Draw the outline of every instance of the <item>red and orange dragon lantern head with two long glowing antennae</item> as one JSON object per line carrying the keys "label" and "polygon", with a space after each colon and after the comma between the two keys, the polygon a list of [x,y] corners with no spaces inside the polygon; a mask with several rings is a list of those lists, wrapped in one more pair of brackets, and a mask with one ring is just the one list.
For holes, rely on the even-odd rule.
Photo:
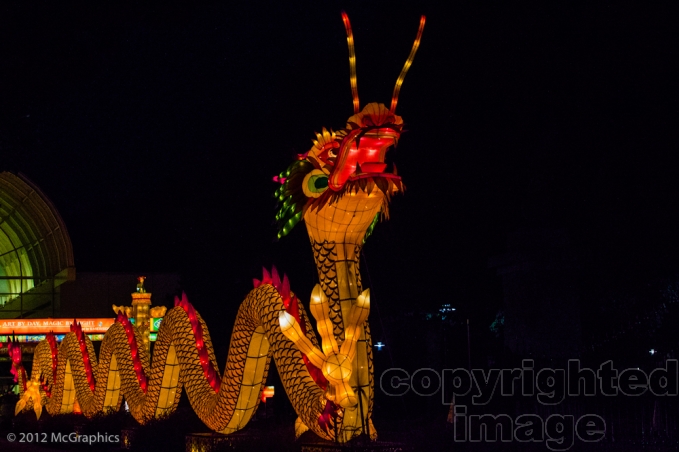
{"label": "red and orange dragon lantern head with two long glowing antennae", "polygon": [[380,214],[388,218],[391,195],[404,189],[396,166],[388,168],[387,151],[398,143],[403,120],[395,114],[398,94],[412,64],[424,30],[424,16],[410,56],[399,75],[391,107],[370,103],[360,110],[356,57],[349,18],[347,30],[354,115],[338,131],[323,128],[313,146],[285,171],[274,177],[281,183],[275,193],[280,203],[276,221],[278,238],[304,219],[315,242],[362,244]]}

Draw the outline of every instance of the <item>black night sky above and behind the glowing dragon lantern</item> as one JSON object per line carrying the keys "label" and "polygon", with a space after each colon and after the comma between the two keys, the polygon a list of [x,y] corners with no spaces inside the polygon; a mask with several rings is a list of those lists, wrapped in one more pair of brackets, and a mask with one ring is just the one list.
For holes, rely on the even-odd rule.
{"label": "black night sky above and behind the glowing dragon lantern", "polygon": [[352,114],[344,9],[362,105],[389,102],[427,15],[392,151],[407,191],[365,248],[383,315],[452,303],[492,320],[488,259],[525,228],[565,229],[593,293],[677,274],[669,12],[166,3],[0,6],[0,169],[53,201],[78,271],[180,272],[199,311],[230,319],[275,264],[308,301],[304,226],[274,240],[271,178]]}

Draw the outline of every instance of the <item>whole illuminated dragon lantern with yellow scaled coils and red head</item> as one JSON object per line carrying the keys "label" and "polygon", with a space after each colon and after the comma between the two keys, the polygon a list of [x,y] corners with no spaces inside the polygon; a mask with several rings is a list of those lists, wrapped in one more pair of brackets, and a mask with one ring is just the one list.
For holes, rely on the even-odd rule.
{"label": "whole illuminated dragon lantern with yellow scaled coils and red head", "polygon": [[353,34],[349,18],[342,17],[354,115],[344,129],[322,129],[311,149],[274,177],[281,184],[275,195],[278,237],[302,219],[309,233],[320,279],[310,311],[320,345],[287,277],[275,268],[264,270],[238,311],[222,376],[207,325],[184,296],[163,319],[152,362],[139,345],[140,333],[122,312],[106,333],[98,359],[78,325],[61,345],[51,335],[36,347],[30,380],[16,357],[13,373],[22,391],[17,412],[45,406],[50,413],[64,413],[77,404],[91,416],[118,410],[124,397],[135,419],[145,423],[172,412],[183,389],[208,427],[232,433],[257,409],[273,355],[299,416],[297,435],[310,429],[339,442],[361,433],[376,438],[370,291],[361,284],[359,257],[379,217],[388,216],[391,195],[403,190],[396,167],[387,170],[385,154],[401,134],[403,121],[395,114],[398,94],[425,19],[397,79],[391,107],[371,103],[360,110]]}

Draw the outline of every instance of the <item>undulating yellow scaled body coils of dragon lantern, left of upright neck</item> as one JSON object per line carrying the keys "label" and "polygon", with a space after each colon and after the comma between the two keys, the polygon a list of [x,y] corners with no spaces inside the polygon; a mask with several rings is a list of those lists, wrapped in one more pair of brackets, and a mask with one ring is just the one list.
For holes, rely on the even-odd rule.
{"label": "undulating yellow scaled body coils of dragon lantern, left of upright neck", "polygon": [[[115,323],[104,336],[98,359],[92,343],[85,339],[87,356],[96,379],[94,391],[87,383],[75,333],[66,335],[59,346],[55,381],[51,377],[49,344],[43,341],[38,345],[32,381],[42,376],[51,388],[51,397],[41,397],[50,414],[72,412],[76,399],[83,414],[88,417],[117,411],[124,397],[130,413],[140,423],[174,411],[184,390],[194,411],[208,427],[232,433],[245,426],[257,409],[270,357],[273,356],[300,418],[312,430],[328,437],[316,422],[324,407],[321,402],[323,391],[306,371],[300,352],[281,334],[278,315],[283,309],[278,291],[270,284],[261,285],[248,294],[238,311],[226,370],[217,393],[204,377],[196,351],[196,338],[187,313],[180,307],[169,310],[163,319],[154,346],[153,362],[143,347],[138,349],[148,376],[146,393],[137,381],[127,335],[120,323]],[[208,327],[199,314],[197,317],[203,328],[203,341],[210,360],[218,368]],[[311,328],[308,331],[312,331]],[[137,343],[141,344],[139,333],[136,335]],[[316,343],[312,335],[310,340]],[[22,382],[19,383],[22,387]],[[27,383],[33,388],[30,381]],[[31,394],[26,393],[35,394],[35,390]],[[22,408],[33,407],[34,402],[22,401]]]}

